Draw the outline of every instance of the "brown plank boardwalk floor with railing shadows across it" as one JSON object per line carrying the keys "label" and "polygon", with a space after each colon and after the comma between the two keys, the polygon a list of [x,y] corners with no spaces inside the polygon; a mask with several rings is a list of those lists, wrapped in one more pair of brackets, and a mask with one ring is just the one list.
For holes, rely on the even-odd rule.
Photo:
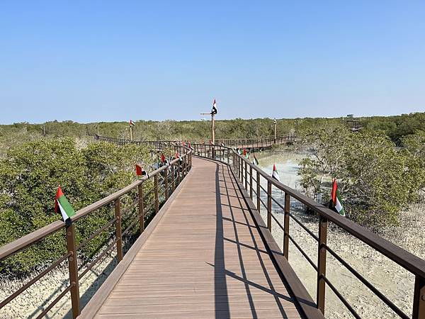
{"label": "brown plank boardwalk floor with railing shadows across it", "polygon": [[82,318],[300,318],[229,167],[193,159]]}

